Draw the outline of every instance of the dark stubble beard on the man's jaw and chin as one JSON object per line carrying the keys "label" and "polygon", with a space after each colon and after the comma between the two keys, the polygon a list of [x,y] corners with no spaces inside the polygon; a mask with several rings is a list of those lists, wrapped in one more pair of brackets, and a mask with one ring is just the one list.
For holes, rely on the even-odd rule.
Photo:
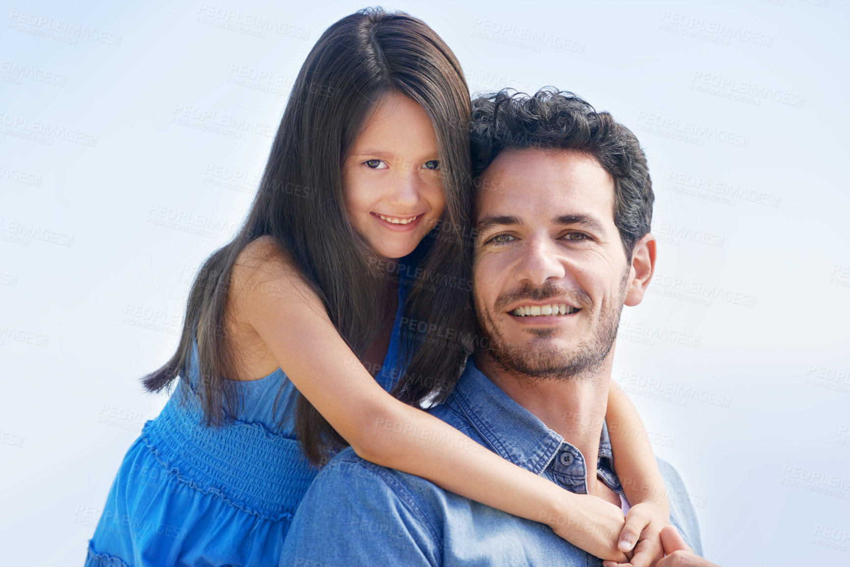
{"label": "dark stubble beard on the man's jaw and chin", "polygon": [[[558,349],[550,346],[541,348],[520,349],[507,343],[505,337],[490,317],[489,312],[482,312],[479,304],[475,303],[475,315],[479,321],[479,329],[490,345],[479,354],[493,361],[501,370],[514,377],[529,380],[570,380],[593,377],[614,346],[617,337],[617,327],[620,326],[620,315],[623,300],[626,298],[626,286],[630,269],[626,269],[620,281],[617,301],[609,303],[599,313],[598,325],[587,341],[582,341],[571,349]],[[533,299],[536,301],[558,297],[560,288],[555,286],[536,288]],[[588,297],[582,292],[584,297]],[[575,295],[575,293],[571,294]],[[523,298],[529,298],[525,296]],[[498,302],[497,302],[498,303]],[[587,305],[583,309],[587,309]],[[582,309],[582,310],[583,310]],[[512,317],[513,315],[505,315]],[[528,329],[537,337],[545,338],[553,335],[552,329]],[[569,351],[569,352],[564,352]]]}

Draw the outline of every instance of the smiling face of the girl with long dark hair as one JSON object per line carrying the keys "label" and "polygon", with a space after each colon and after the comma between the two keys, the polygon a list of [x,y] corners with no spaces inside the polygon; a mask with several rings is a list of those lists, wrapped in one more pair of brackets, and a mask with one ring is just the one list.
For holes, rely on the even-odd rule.
{"label": "smiling face of the girl with long dark hair", "polygon": [[445,207],[437,138],[422,106],[403,94],[379,101],[343,164],[348,218],[376,252],[413,252]]}

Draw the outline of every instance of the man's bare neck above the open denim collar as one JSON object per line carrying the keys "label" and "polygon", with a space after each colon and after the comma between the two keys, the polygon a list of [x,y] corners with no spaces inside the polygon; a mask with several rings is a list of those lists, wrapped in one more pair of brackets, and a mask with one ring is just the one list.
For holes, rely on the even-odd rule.
{"label": "man's bare neck above the open denim collar", "polygon": [[483,354],[475,356],[475,366],[502,392],[581,451],[587,467],[587,493],[594,494],[598,485],[599,439],[608,408],[611,360],[613,356],[606,357],[592,375],[563,379],[530,380],[515,376]]}

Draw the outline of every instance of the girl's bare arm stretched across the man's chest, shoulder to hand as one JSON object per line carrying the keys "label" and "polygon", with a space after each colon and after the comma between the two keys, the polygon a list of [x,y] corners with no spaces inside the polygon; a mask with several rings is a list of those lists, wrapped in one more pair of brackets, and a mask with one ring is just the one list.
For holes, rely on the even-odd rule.
{"label": "girl's bare arm stretched across the man's chest, shoulder to hand", "polygon": [[[576,495],[508,462],[437,417],[388,394],[339,336],[320,299],[282,254],[236,264],[231,291],[241,320],[358,456],[428,479],[458,495],[552,526],[600,558],[616,547],[618,507]],[[428,432],[428,439],[423,437]],[[422,443],[430,447],[423,458]]]}

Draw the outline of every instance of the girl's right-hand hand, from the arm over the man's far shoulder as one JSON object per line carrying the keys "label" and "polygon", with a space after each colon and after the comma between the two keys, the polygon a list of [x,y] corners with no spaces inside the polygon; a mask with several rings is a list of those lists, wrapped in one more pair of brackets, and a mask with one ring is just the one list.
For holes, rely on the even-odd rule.
{"label": "girl's right-hand hand, from the arm over the man's far shoulder", "polygon": [[[664,557],[661,545],[661,528],[669,524],[670,519],[662,517],[663,509],[642,502],[635,504],[626,514],[626,523],[620,534],[618,548],[623,552],[634,551],[629,563],[603,561],[603,567],[649,567]],[[637,545],[636,545],[637,542]]]}

